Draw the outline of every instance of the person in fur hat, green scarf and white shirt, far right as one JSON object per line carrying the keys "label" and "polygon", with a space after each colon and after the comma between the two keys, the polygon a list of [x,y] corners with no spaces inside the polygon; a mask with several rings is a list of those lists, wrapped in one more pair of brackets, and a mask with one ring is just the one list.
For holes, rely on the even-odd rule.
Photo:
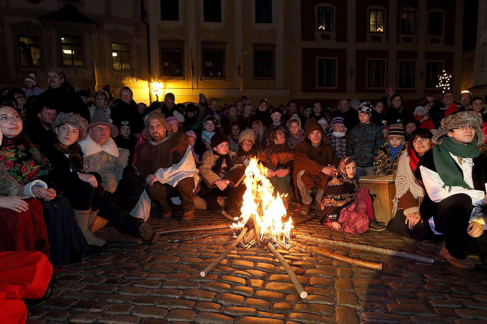
{"label": "person in fur hat, green scarf and white shirt, far right", "polygon": [[422,222],[445,237],[440,256],[464,270],[475,268],[467,258],[469,246],[477,246],[474,254],[487,252],[485,214],[472,216],[474,206],[487,205],[487,156],[478,148],[485,141],[481,127],[482,118],[471,111],[451,113],[441,120],[432,149],[416,169],[428,193],[419,207]]}

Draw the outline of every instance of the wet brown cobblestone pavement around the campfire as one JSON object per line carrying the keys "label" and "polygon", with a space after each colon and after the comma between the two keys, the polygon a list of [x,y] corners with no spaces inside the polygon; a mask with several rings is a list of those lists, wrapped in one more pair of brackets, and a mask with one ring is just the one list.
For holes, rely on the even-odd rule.
{"label": "wet brown cobblestone pavement around the campfire", "polygon": [[[228,223],[207,211],[197,211],[194,221],[185,223],[155,216],[149,222],[159,230]],[[177,233],[150,244],[107,226],[97,232],[107,246],[55,275],[52,297],[30,311],[27,323],[487,323],[486,266],[479,258],[472,259],[478,271],[466,272],[438,255],[441,243],[396,237],[387,230],[352,235],[314,220],[293,232],[415,253],[435,262],[334,248],[344,256],[382,262],[379,271],[300,249],[280,250],[308,292],[300,299],[267,249],[237,247],[201,277],[200,271],[230,244],[228,236],[168,243],[202,234]]]}

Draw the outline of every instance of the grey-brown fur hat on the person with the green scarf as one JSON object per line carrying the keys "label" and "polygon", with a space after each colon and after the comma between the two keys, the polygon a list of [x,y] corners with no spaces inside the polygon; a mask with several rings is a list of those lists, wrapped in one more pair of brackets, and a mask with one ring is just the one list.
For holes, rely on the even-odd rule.
{"label": "grey-brown fur hat on the person with the green scarf", "polygon": [[482,117],[468,110],[457,110],[441,119],[441,129],[434,133],[431,141],[433,144],[440,145],[443,143],[443,138],[448,136],[448,132],[453,128],[468,125],[475,128],[475,144],[477,146],[484,144],[486,136],[482,131]]}

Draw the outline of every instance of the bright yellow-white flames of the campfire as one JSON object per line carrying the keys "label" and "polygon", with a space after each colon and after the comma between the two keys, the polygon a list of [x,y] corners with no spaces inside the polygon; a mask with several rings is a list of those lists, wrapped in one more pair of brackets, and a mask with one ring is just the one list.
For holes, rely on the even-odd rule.
{"label": "bright yellow-white flames of the campfire", "polygon": [[282,202],[282,197],[287,196],[287,193],[274,194],[274,186],[266,175],[267,168],[258,164],[256,158],[252,158],[245,169],[246,190],[244,205],[240,210],[241,216],[234,219],[236,222],[232,223],[232,228],[243,227],[245,222],[255,215],[261,227],[261,239],[268,234],[275,241],[286,244],[289,232],[294,228],[291,217],[288,222],[281,221],[281,218],[287,215]]}

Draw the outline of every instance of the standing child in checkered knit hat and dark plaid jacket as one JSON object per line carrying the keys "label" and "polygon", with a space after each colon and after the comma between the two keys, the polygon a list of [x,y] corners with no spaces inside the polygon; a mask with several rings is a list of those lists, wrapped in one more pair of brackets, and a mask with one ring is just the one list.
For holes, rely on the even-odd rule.
{"label": "standing child in checkered knit hat and dark plaid jacket", "polygon": [[358,109],[356,124],[347,136],[347,155],[352,156],[357,163],[356,178],[362,175],[374,174],[374,158],[379,148],[384,143],[382,130],[370,121],[372,105],[370,102],[362,102]]}

